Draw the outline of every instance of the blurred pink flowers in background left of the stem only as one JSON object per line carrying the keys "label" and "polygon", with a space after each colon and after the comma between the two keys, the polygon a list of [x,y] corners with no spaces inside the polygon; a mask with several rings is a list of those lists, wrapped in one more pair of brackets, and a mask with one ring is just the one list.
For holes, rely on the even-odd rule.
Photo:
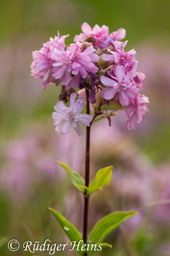
{"label": "blurred pink flowers in background left of the stem only", "polygon": [[73,131],[66,137],[56,136],[53,129],[49,132],[48,125],[42,132],[39,132],[40,128],[41,125],[36,125],[29,135],[5,143],[0,188],[10,195],[11,200],[27,200],[39,182],[48,182],[55,188],[60,180],[66,179],[67,174],[56,163],[57,159],[67,161],[73,170],[82,170],[83,138],[78,139]]}

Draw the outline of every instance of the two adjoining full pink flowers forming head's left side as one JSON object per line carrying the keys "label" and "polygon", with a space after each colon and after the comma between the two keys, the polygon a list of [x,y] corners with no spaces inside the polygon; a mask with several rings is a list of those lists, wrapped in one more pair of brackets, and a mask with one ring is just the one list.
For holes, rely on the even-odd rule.
{"label": "two adjoining full pink flowers forming head's left side", "polygon": [[43,44],[39,51],[32,52],[31,72],[36,79],[43,79],[43,89],[49,83],[71,86],[77,88],[81,78],[87,77],[87,72],[92,74],[98,71],[94,62],[99,61],[99,56],[92,45],[85,51],[81,50],[82,44],[76,42],[69,47],[65,45],[66,36],[55,36]]}

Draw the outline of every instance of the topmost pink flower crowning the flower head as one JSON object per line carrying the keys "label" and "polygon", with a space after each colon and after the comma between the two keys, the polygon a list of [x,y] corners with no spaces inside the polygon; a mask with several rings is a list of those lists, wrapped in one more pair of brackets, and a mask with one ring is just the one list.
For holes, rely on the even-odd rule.
{"label": "topmost pink flower crowning the flower head", "polygon": [[110,45],[111,42],[111,38],[109,38],[109,29],[107,26],[103,25],[101,28],[99,27],[99,25],[95,25],[94,28],[92,29],[90,27],[89,24],[87,24],[86,22],[84,22],[81,25],[81,30],[83,31],[83,33],[81,33],[80,35],[76,35],[74,37],[74,42],[83,40],[85,37],[87,36],[92,36],[96,39],[96,47],[101,46],[102,48],[107,47],[108,45]]}

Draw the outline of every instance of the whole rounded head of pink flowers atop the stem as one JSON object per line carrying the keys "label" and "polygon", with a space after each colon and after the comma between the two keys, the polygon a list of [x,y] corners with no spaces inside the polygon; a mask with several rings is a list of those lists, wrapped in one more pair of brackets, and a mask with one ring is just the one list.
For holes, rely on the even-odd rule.
{"label": "whole rounded head of pink flowers atop the stem", "polygon": [[[118,109],[125,109],[127,114],[127,129],[134,129],[134,121],[141,122],[148,108],[148,98],[140,95],[145,75],[137,72],[138,61],[136,51],[125,51],[127,41],[125,29],[118,29],[110,33],[105,25],[96,24],[91,28],[84,22],[81,26],[83,33],[74,36],[74,44],[66,45],[65,39],[69,35],[55,36],[43,44],[39,51],[32,52],[31,73],[36,79],[43,79],[41,87],[48,84],[62,85],[59,102],[53,112],[56,131],[67,134],[71,125],[81,134],[78,124],[88,126],[92,116],[82,122],[80,116],[83,110],[83,99],[77,99],[78,90],[89,91],[90,109],[94,109],[94,116],[108,115]],[[64,105],[71,100],[68,108]],[[117,108],[113,108],[116,102]],[[75,107],[75,106],[76,107]],[[120,106],[118,108],[118,106]],[[81,111],[80,111],[81,110]],[[79,116],[79,117],[78,117]],[[84,116],[85,117],[85,116]]]}

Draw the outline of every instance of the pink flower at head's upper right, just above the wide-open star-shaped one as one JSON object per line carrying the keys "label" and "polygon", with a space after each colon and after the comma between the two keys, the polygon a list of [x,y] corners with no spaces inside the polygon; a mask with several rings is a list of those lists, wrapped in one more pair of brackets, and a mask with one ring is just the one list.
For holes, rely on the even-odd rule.
{"label": "pink flower at head's upper right, just above the wide-open star-shaped one", "polygon": [[136,56],[136,51],[132,49],[129,52],[125,52],[124,48],[126,45],[127,41],[125,43],[114,42],[113,46],[115,47],[116,51],[110,51],[111,54],[103,54],[103,60],[111,61],[118,65],[126,65],[127,63],[131,63]]}

